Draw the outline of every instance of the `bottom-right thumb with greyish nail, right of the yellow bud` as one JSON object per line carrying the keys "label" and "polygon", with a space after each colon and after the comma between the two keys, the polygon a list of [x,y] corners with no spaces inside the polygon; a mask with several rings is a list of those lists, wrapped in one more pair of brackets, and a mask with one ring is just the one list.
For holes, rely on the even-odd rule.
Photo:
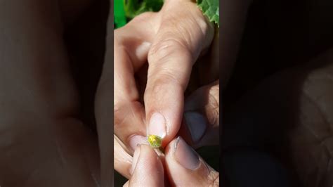
{"label": "bottom-right thumb with greyish nail, right of the yellow bud", "polygon": [[166,171],[173,186],[218,186],[219,174],[178,136],[166,146]]}

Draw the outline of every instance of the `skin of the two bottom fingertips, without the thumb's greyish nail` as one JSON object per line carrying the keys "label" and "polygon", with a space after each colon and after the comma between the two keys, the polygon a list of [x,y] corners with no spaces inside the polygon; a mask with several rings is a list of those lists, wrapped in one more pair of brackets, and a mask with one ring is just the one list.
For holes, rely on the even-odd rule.
{"label": "skin of the two bottom fingertips, without the thumb's greyish nail", "polygon": [[[169,176],[172,186],[219,186],[218,172],[214,171],[207,164],[200,160],[200,166],[195,170],[183,168],[174,159],[173,148],[176,139],[171,141],[166,147],[166,152],[162,159],[152,148],[141,145],[136,151],[140,151],[137,164],[133,167],[133,176],[124,186],[164,186],[164,177]],[[183,155],[184,157],[186,155]],[[164,165],[172,170],[163,169]],[[164,174],[167,174],[164,176]],[[145,177],[151,176],[151,177]]]}

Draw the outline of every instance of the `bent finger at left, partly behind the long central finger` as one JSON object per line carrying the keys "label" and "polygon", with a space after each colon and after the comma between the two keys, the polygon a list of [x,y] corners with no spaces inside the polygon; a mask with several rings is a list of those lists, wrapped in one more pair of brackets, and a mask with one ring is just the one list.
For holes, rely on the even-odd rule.
{"label": "bent finger at left, partly behind the long central finger", "polygon": [[[134,75],[147,59],[150,36],[146,27],[150,23],[143,18],[151,16],[150,13],[141,15],[133,20],[136,25],[129,24],[115,32],[115,134],[127,146],[131,146],[131,153],[136,144],[144,143],[146,136],[145,110],[140,102],[140,88]],[[138,35],[133,36],[133,33]],[[105,77],[110,75],[105,74]]]}

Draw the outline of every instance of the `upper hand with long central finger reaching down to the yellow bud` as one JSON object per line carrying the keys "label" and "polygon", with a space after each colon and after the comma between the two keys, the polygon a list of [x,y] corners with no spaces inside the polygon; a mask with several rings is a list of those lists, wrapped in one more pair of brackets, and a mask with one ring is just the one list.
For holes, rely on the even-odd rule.
{"label": "upper hand with long central finger reaching down to the yellow bud", "polygon": [[[117,136],[115,169],[127,178],[130,155],[138,143],[146,141],[147,133],[163,136],[163,146],[176,136],[192,65],[213,37],[211,23],[192,1],[166,1],[159,13],[144,13],[115,30],[115,51],[107,49],[96,94],[102,181],[110,181],[113,166],[112,121]],[[113,45],[113,30],[108,39],[107,44]],[[115,120],[110,117],[113,108]]]}

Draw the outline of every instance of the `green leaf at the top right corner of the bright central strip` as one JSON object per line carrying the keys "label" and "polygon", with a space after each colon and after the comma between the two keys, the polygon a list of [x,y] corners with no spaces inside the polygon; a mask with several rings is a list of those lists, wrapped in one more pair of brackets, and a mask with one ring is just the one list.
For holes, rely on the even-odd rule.
{"label": "green leaf at the top right corner of the bright central strip", "polygon": [[197,6],[209,18],[210,22],[215,22],[220,27],[220,6],[218,0],[197,0]]}

